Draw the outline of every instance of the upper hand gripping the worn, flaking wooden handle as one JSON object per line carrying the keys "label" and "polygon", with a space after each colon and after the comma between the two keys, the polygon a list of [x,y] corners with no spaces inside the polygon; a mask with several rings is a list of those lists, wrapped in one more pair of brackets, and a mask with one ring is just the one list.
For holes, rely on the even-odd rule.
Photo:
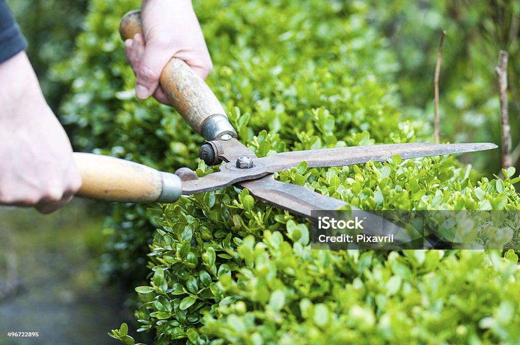
{"label": "upper hand gripping the worn, flaking wooden handle", "polygon": [[159,77],[172,57],[184,60],[202,79],[210,74],[210,53],[190,0],[144,0],[141,24],[144,37],[136,34],[125,41],[126,60],[137,76],[138,98],[153,95],[170,104],[159,87]]}

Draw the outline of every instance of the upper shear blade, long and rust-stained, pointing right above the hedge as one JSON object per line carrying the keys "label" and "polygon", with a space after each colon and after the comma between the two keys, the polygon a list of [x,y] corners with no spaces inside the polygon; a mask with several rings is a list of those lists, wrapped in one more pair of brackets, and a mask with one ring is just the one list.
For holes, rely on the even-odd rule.
{"label": "upper shear blade, long and rust-stained, pointing right above the hedge", "polygon": [[344,166],[352,164],[386,162],[393,155],[400,155],[402,159],[445,154],[485,151],[496,149],[492,143],[462,143],[462,144],[433,144],[433,143],[404,143],[383,144],[371,146],[353,146],[348,148],[320,149],[307,151],[282,152],[269,157],[255,160],[268,167],[269,172],[286,170],[307,162],[308,167]]}

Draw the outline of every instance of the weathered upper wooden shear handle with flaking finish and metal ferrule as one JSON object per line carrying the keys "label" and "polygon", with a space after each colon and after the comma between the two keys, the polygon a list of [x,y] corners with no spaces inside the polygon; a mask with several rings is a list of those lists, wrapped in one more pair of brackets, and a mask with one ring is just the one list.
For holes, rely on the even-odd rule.
{"label": "weathered upper wooden shear handle with flaking finish and metal ferrule", "polygon": [[[140,10],[128,12],[119,25],[123,39],[133,38],[141,29]],[[206,140],[226,134],[237,137],[213,91],[186,62],[172,58],[161,73],[160,84],[173,107]]]}

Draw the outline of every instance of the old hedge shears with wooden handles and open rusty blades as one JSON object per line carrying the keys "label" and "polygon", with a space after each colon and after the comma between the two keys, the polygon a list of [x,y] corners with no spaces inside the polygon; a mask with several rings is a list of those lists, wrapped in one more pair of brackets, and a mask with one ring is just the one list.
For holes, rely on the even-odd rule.
{"label": "old hedge shears with wooden handles and open rusty blades", "polygon": [[[133,38],[140,32],[140,11],[128,12],[121,21],[121,36]],[[258,158],[238,141],[217,97],[184,61],[172,58],[162,71],[160,84],[173,107],[207,140],[200,148],[201,160],[207,165],[225,163],[218,172],[199,178],[189,168],[172,174],[119,158],[76,152],[74,160],[83,178],[78,195],[113,202],[173,203],[181,195],[235,185],[248,189],[258,200],[311,219],[311,210],[335,210],[347,204],[301,185],[277,181],[275,172],[302,162],[309,168],[333,167],[385,162],[397,154],[408,159],[497,148],[493,143],[400,143],[283,152]]]}

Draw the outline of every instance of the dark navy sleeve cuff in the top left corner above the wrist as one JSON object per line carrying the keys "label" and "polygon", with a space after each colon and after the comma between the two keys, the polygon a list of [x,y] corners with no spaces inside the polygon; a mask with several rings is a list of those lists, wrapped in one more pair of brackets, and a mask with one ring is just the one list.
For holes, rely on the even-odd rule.
{"label": "dark navy sleeve cuff in the top left corner above the wrist", "polygon": [[0,0],[0,62],[18,54],[27,47],[6,0]]}

